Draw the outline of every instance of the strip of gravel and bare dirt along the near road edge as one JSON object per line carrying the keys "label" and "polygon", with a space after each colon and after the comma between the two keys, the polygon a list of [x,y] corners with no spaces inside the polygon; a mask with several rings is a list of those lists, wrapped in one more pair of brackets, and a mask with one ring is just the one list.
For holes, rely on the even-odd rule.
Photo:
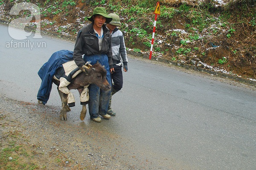
{"label": "strip of gravel and bare dirt along the near road edge", "polygon": [[[60,107],[21,102],[0,94],[0,108],[0,155],[5,159],[0,170],[14,160],[46,170],[137,169],[95,144],[106,137],[104,134],[58,120]],[[15,146],[22,146],[23,154],[19,149],[5,155],[5,148]]]}

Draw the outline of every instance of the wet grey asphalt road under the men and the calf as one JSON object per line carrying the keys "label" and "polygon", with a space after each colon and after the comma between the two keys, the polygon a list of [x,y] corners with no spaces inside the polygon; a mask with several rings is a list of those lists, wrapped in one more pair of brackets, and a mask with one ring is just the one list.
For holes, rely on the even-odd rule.
{"label": "wet grey asphalt road under the men and the calf", "polygon": [[[19,40],[6,26],[0,32],[0,93],[37,102],[38,70],[55,51],[73,51],[74,43],[43,36],[20,40],[33,46],[16,47]],[[136,58],[128,68],[124,87],[113,96],[117,115],[101,123],[91,124],[88,114],[84,120],[119,136],[125,146],[112,147],[122,150],[122,159],[134,155],[148,169],[256,169],[256,91]],[[61,106],[55,86],[47,105]],[[79,125],[76,105],[68,121]]]}

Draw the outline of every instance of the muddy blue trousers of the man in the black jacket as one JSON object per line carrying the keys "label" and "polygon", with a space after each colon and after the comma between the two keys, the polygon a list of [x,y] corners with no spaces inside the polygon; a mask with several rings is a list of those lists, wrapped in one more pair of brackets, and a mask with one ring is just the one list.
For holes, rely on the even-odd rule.
{"label": "muddy blue trousers of the man in the black jacket", "polygon": [[[101,65],[105,66],[105,69],[107,70],[107,80],[108,83],[111,85],[111,76],[110,76],[110,70],[108,65],[108,56],[106,54],[102,55],[92,55],[92,56],[86,56],[84,55],[84,61],[90,61],[91,65],[96,64],[96,62],[99,62]],[[108,103],[111,98],[111,90],[104,91],[100,89],[95,84],[89,85],[89,114],[90,117],[97,118],[99,117],[99,114],[105,115],[108,111]]]}

